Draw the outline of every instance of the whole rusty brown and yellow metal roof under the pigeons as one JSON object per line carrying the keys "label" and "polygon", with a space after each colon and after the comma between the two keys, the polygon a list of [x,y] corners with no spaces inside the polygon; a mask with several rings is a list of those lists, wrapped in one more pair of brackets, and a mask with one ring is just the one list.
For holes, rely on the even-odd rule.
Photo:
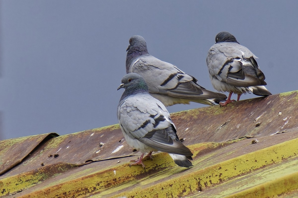
{"label": "whole rusty brown and yellow metal roof under the pigeons", "polygon": [[2,140],[0,197],[297,195],[297,94],[173,113],[177,134],[194,153],[188,169],[161,152],[144,161],[145,170],[128,167],[140,153],[118,125]]}

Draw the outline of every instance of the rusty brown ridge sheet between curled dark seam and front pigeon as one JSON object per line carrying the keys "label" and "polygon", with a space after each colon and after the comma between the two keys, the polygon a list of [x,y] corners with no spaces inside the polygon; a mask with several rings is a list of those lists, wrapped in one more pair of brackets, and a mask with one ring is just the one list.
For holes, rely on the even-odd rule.
{"label": "rusty brown ridge sheet between curled dark seam and front pigeon", "polygon": [[[17,167],[7,171],[1,177],[19,174],[58,162],[81,164],[87,161],[137,155],[123,140],[124,137],[119,125],[55,137],[39,145],[30,154],[30,158],[23,160]],[[103,145],[100,146],[100,143]],[[20,144],[19,147],[23,148],[27,143],[24,144]]]}

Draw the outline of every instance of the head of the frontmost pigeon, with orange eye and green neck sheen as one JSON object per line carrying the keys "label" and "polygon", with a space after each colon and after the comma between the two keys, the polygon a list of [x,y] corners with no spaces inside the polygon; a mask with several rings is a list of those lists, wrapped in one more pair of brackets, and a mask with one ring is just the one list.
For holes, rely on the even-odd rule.
{"label": "head of the frontmost pigeon, with orange eye and green neck sheen", "polygon": [[[122,98],[137,94],[137,93],[148,93],[148,86],[144,80],[144,78],[136,73],[128,73],[126,74],[122,80],[121,84],[119,85],[118,89],[125,88],[125,91],[122,95]],[[121,99],[122,99],[121,98]]]}

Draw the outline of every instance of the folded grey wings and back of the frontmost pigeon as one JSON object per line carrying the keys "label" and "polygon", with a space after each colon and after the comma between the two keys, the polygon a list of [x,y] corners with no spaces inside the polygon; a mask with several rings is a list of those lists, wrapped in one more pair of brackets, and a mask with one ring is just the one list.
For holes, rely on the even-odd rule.
{"label": "folded grey wings and back of the frontmost pigeon", "polygon": [[[128,136],[133,136],[159,151],[193,155],[179,141],[170,114],[159,100],[149,94],[136,94],[120,103],[118,119]],[[174,134],[169,132],[169,129],[172,129]]]}

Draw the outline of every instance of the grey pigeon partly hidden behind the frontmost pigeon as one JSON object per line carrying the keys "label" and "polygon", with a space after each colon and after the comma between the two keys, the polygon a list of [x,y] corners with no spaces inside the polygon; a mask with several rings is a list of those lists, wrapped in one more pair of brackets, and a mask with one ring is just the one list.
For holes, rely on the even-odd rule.
{"label": "grey pigeon partly hidden behind the frontmost pigeon", "polygon": [[126,73],[143,76],[151,96],[165,106],[190,102],[215,105],[226,101],[226,95],[206,90],[197,84],[197,79],[175,65],[151,56],[143,37],[131,37],[126,51]]}

